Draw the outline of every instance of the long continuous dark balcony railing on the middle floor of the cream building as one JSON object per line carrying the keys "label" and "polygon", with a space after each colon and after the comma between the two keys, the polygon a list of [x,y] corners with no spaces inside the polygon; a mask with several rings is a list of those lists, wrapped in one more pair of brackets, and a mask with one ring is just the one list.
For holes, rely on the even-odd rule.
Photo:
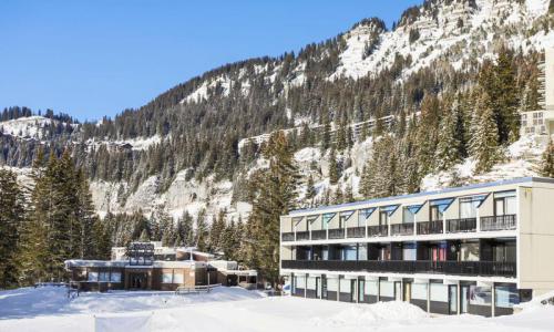
{"label": "long continuous dark balcony railing on the middle floor of the cream building", "polygon": [[429,260],[284,260],[284,269],[515,277],[515,262]]}

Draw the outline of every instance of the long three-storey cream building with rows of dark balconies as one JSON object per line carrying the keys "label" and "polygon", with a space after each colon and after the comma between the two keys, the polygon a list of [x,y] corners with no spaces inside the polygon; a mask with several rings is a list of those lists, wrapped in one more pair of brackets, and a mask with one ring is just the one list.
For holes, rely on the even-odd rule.
{"label": "long three-storey cream building with rows of dark balconies", "polygon": [[280,219],[296,297],[485,317],[554,290],[554,179],[517,178]]}

